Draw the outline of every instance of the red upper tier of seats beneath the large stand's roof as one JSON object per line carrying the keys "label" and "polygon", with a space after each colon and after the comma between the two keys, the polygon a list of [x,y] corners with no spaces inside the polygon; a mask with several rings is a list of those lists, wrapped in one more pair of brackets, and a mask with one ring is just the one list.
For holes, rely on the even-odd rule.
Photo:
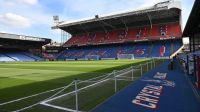
{"label": "red upper tier of seats beneath the large stand's roof", "polygon": [[64,47],[90,44],[123,43],[126,41],[143,39],[160,39],[168,37],[181,37],[182,31],[179,23],[129,28],[127,30],[113,30],[109,32],[95,32],[89,34],[73,35]]}

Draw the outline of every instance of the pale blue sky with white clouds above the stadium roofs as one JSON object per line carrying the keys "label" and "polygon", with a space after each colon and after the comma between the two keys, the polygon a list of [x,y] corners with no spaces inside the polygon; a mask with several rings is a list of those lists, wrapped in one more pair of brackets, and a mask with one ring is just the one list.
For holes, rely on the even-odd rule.
{"label": "pale blue sky with white clouds above the stadium roofs", "polygon": [[[60,42],[60,30],[52,30],[53,16],[73,21],[152,6],[161,0],[0,0],[0,32],[51,38]],[[183,28],[194,0],[182,3]]]}

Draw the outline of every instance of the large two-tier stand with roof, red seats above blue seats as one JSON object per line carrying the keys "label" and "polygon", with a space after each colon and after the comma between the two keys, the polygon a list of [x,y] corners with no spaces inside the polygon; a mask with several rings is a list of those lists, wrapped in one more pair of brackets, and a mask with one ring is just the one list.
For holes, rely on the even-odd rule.
{"label": "large two-tier stand with roof, red seats above blue seats", "polygon": [[61,22],[54,27],[72,37],[57,58],[85,60],[88,55],[96,55],[99,59],[117,59],[118,54],[169,58],[183,45],[180,21],[180,3],[165,1],[137,11]]}

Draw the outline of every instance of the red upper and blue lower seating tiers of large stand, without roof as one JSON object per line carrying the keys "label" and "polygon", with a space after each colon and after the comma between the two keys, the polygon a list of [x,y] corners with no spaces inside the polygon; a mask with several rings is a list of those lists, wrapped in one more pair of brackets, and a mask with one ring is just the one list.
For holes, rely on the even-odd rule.
{"label": "red upper and blue lower seating tiers of large stand, without roof", "polygon": [[[140,40],[162,40],[171,39],[172,37],[180,37],[181,28],[178,23],[159,24],[150,26],[130,28],[126,30],[113,30],[107,34],[104,32],[97,32],[91,34],[81,34],[72,36],[63,46],[69,47],[63,53],[58,55],[58,59],[64,60],[84,60],[87,55],[99,55],[100,59],[117,59],[117,54],[134,54],[136,58],[149,58],[149,57],[169,57],[176,50],[182,46],[181,40],[155,42],[155,44],[147,43],[134,43],[132,45],[126,42],[140,41]],[[124,45],[116,46],[114,43],[122,43]],[[72,48],[73,46],[87,46],[87,45],[102,45],[98,47],[87,48]],[[112,45],[109,45],[112,44]],[[159,52],[158,52],[159,51]],[[53,56],[52,56],[53,57]],[[55,57],[55,56],[54,56]]]}

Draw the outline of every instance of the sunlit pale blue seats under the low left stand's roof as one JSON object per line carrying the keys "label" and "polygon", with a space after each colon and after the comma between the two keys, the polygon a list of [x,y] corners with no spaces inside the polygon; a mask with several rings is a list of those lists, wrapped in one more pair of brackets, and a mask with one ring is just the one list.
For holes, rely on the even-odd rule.
{"label": "sunlit pale blue seats under the low left stand's roof", "polygon": [[41,61],[42,58],[28,52],[4,52],[0,53],[0,61]]}

